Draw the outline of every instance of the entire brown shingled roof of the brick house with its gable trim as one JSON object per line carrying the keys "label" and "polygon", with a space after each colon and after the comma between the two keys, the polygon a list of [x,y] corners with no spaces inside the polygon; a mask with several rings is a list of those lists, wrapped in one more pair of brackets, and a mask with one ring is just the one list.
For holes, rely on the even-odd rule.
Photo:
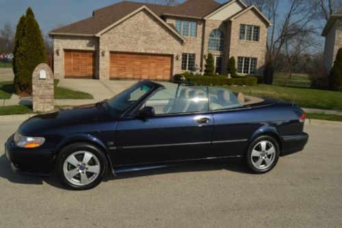
{"label": "entire brown shingled roof of the brick house with its gable trim", "polygon": [[[163,25],[172,30],[172,32],[174,32],[176,36],[179,36],[179,33],[174,29],[174,27],[171,27],[163,20],[161,20],[161,17],[179,16],[203,19],[209,14],[216,12],[222,7],[229,5],[235,1],[239,1],[239,3],[244,6],[246,5],[241,0],[231,0],[223,4],[220,4],[214,0],[187,0],[184,3],[175,6],[157,5],[133,1],[121,1],[113,5],[109,5],[105,8],[94,10],[94,12],[92,12],[92,16],[89,18],[83,19],[76,23],[72,23],[70,25],[66,25],[64,27],[60,27],[58,29],[53,29],[49,32],[49,35],[98,36],[98,34],[103,32],[105,29],[112,27],[112,25],[117,25],[118,23],[124,21],[125,18],[129,18],[129,16],[134,15],[137,10],[142,10],[142,8],[144,7],[145,10],[148,10],[150,14],[153,14],[153,16],[155,16],[161,23],[163,23]],[[250,8],[241,10],[238,14],[241,15],[252,8],[255,8],[255,6],[252,5]],[[255,10],[257,10],[257,13],[261,15],[261,18],[264,18],[265,21],[269,23],[269,25],[272,25],[272,23],[270,23],[257,8],[255,8]]]}

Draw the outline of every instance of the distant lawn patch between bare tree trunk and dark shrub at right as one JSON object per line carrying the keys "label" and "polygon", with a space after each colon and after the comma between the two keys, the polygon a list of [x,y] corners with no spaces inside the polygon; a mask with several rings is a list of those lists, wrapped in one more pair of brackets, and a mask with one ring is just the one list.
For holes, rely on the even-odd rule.
{"label": "distant lawn patch between bare tree trunk and dark shrub at right", "polygon": [[293,73],[289,79],[289,73],[277,72],[274,73],[273,84],[274,86],[310,88],[311,81],[306,74]]}

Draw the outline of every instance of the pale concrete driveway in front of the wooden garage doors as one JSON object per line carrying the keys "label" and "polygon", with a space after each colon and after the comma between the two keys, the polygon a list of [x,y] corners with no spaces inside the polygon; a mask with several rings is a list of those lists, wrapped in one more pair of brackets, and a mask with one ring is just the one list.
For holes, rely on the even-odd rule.
{"label": "pale concrete driveway in front of the wooden garage doors", "polygon": [[92,94],[96,101],[103,101],[114,97],[114,95],[122,92],[129,86],[135,84],[133,80],[110,80],[100,81],[96,79],[62,79],[58,87],[79,90]]}

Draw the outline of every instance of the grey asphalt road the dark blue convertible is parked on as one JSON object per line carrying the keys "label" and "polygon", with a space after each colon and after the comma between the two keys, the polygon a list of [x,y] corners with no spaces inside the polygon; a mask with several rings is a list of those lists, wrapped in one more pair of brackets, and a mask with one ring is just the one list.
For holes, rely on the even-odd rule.
{"label": "grey asphalt road the dark blue convertible is parked on", "polygon": [[[20,122],[0,122],[0,142]],[[65,190],[15,175],[0,149],[0,227],[342,227],[342,125],[306,125],[300,153],[271,173],[193,165],[107,177]]]}

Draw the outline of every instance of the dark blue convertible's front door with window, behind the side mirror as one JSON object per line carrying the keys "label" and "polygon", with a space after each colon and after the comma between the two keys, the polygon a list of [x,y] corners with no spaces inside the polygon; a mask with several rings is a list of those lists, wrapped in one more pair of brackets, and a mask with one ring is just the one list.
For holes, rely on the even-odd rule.
{"label": "dark blue convertible's front door with window, behind the side mirror", "polygon": [[153,107],[155,116],[131,115],[119,121],[116,164],[207,157],[213,134],[207,88],[166,87],[144,102],[140,109],[146,106]]}

